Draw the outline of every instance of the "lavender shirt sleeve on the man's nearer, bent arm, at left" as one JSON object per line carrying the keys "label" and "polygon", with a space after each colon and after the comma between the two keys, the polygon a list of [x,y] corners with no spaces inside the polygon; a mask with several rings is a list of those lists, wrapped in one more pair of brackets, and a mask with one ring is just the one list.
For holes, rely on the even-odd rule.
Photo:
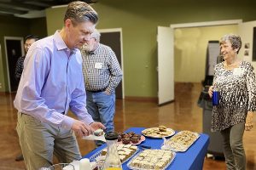
{"label": "lavender shirt sleeve on the man's nearer, bent arm, at left", "polygon": [[[41,48],[30,49],[24,63],[24,76],[20,80],[20,89],[16,99],[20,112],[33,116],[41,122],[48,122],[57,127],[70,129],[74,119],[65,116],[45,105],[41,97],[44,82],[47,79],[50,66],[49,54]],[[16,100],[15,99],[15,100]]]}

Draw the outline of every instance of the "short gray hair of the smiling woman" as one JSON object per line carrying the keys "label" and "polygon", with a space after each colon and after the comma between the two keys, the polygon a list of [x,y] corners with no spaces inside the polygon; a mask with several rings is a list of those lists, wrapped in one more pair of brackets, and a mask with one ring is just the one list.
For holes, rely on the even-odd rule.
{"label": "short gray hair of the smiling woman", "polygon": [[226,42],[227,40],[230,41],[231,43],[231,47],[233,49],[237,48],[237,54],[239,53],[239,50],[241,48],[241,37],[237,36],[236,34],[226,34],[224,35],[224,37],[221,37],[219,44],[223,44],[224,42]]}

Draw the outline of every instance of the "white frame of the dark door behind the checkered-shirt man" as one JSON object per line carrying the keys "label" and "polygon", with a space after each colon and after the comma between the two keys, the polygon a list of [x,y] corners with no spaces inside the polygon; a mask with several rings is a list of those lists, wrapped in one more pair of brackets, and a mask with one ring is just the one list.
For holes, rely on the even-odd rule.
{"label": "white frame of the dark door behind the checkered-shirt man", "polygon": [[125,69],[124,69],[124,58],[123,58],[123,34],[122,34],[122,28],[109,28],[109,29],[97,29],[100,33],[108,33],[108,32],[119,32],[120,33],[120,47],[121,47],[121,68],[123,71],[123,77],[122,77],[122,94],[123,99],[125,99]]}

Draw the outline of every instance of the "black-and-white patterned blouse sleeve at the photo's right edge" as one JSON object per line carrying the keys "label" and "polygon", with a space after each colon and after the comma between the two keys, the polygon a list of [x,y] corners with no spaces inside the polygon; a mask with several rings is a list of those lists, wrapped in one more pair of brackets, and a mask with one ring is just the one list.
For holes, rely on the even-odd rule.
{"label": "black-and-white patterned blouse sleeve at the photo's right edge", "polygon": [[253,71],[253,65],[251,64],[248,65],[247,70],[247,93],[247,111],[256,111],[256,79]]}

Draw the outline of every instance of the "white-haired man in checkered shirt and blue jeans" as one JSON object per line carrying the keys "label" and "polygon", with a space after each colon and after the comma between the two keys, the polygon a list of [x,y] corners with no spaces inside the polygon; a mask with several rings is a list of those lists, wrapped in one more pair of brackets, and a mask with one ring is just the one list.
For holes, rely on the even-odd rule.
{"label": "white-haired man in checkered shirt and blue jeans", "polygon": [[90,34],[90,41],[81,49],[86,108],[94,121],[102,122],[107,132],[113,132],[115,88],[123,72],[113,50],[100,43],[100,36],[95,30]]}

